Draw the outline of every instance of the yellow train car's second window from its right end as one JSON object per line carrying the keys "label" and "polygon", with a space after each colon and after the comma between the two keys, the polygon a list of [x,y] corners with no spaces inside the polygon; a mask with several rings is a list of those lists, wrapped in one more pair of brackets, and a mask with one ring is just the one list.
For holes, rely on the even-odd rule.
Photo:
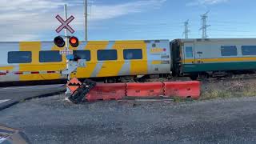
{"label": "yellow train car's second window from its right end", "polygon": [[98,50],[98,61],[113,61],[118,59],[117,50]]}

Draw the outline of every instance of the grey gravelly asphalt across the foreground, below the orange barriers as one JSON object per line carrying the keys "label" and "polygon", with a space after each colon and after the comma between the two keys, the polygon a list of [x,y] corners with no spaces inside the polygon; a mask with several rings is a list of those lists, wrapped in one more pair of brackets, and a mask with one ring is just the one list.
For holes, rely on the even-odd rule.
{"label": "grey gravelly asphalt across the foreground, below the orange barriers", "polygon": [[58,95],[18,103],[0,123],[33,143],[255,143],[256,98],[205,102],[85,102]]}

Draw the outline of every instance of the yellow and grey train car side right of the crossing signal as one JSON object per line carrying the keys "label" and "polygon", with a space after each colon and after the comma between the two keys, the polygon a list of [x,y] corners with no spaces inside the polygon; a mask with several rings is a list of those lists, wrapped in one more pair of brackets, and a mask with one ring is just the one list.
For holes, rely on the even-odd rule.
{"label": "yellow and grey train car side right of the crossing signal", "polygon": [[[110,41],[88,42],[84,50],[90,50],[91,61],[86,68],[78,68],[77,78],[104,78],[129,75],[170,74],[170,46],[168,40],[160,41]],[[100,61],[98,50],[116,50],[117,60]],[[126,53],[130,50],[130,53]],[[132,58],[132,51],[141,50],[141,58]],[[131,58],[128,58],[131,57]]]}

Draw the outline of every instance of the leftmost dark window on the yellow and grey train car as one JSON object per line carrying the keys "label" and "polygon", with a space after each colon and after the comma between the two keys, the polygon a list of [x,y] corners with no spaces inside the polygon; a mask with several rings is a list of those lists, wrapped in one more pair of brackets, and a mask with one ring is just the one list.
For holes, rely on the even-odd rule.
{"label": "leftmost dark window on the yellow and grey train car", "polygon": [[8,63],[30,63],[32,62],[31,51],[9,51]]}

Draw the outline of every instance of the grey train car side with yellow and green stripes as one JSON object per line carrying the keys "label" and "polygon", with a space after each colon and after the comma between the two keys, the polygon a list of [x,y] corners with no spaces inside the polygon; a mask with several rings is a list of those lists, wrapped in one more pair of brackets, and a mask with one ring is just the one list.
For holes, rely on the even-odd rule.
{"label": "grey train car side with yellow and green stripes", "polygon": [[256,49],[255,39],[183,42],[182,72],[256,70],[256,54],[243,54],[244,46]]}

